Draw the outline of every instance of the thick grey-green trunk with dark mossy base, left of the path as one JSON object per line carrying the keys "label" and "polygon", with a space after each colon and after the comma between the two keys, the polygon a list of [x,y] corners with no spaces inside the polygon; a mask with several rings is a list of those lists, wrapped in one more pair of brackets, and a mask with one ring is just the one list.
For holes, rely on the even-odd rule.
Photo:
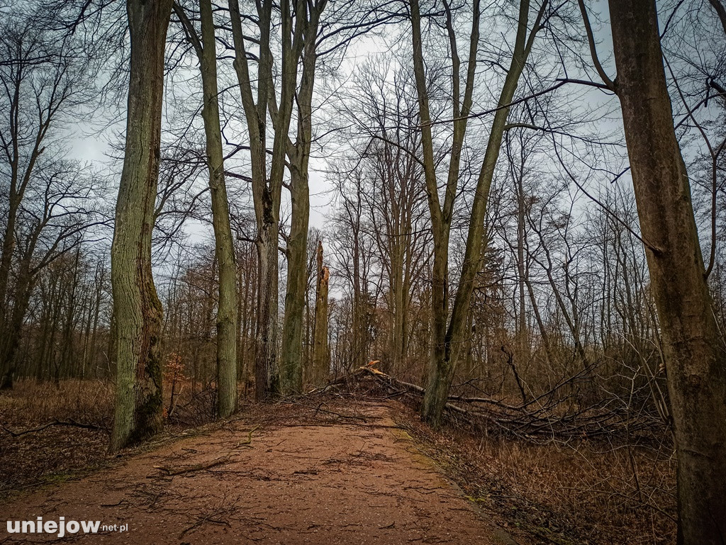
{"label": "thick grey-green trunk with dark mossy base, left of the path", "polygon": [[111,283],[116,327],[116,406],[110,450],[162,425],[162,308],[151,270],[159,173],[164,44],[171,0],[128,0],[131,79],[126,150],[116,202]]}

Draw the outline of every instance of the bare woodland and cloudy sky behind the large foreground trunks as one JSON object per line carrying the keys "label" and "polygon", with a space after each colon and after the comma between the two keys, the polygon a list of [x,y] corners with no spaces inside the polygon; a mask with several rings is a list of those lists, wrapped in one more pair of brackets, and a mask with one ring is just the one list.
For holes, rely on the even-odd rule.
{"label": "bare woodland and cloudy sky behind the large foreground trunks", "polygon": [[[263,287],[252,144],[233,63],[239,48],[228,22],[230,8],[223,4],[212,11],[237,286],[236,379],[245,399],[256,386],[259,351],[271,348],[259,342]],[[248,14],[259,6],[237,9],[245,33],[257,36],[260,21]],[[301,109],[305,75],[295,73],[290,87],[277,60],[271,69],[280,103],[286,92],[294,95],[289,132],[298,131],[297,142],[309,123],[313,221],[303,259],[293,267],[303,273],[295,284],[303,291],[303,390],[340,380],[370,361],[380,361],[378,369],[400,381],[425,385],[437,309],[411,14],[396,1],[331,1],[320,9],[316,38],[308,42],[317,48],[317,64],[308,74],[314,78],[309,113]],[[444,0],[424,2],[420,9],[431,157],[443,187],[457,142],[452,105],[454,111],[457,102],[461,107],[463,92],[463,82],[452,78],[452,50],[457,45],[462,55],[468,50],[471,6]],[[510,73],[505,66],[515,50],[518,9],[510,1],[481,7],[471,114],[454,168],[458,185],[446,253],[452,286],[465,261],[499,89]],[[658,3],[674,123],[720,331],[726,326],[723,9],[717,0]],[[492,165],[481,261],[450,393],[488,400],[487,434],[523,445],[576,445],[593,470],[603,463],[593,461],[608,451],[617,463],[603,480],[613,488],[597,491],[610,494],[611,508],[621,515],[623,509],[645,509],[651,520],[670,528],[643,537],[659,541],[670,535],[674,520],[664,351],[619,104],[606,86],[590,84],[601,81],[603,70],[615,73],[607,6],[587,4],[590,40],[578,2],[533,5],[531,20],[538,10],[544,17]],[[130,70],[126,17],[118,1],[0,4],[0,374],[4,388],[29,396],[33,382],[44,384],[46,396],[56,396],[45,385],[53,384],[68,405],[73,395],[60,392],[77,392],[76,406],[86,408],[113,390],[117,376],[110,245]],[[286,46],[283,19],[274,7],[274,59]],[[193,39],[199,25],[197,3],[180,1],[166,37],[152,212],[152,271],[163,307],[163,405],[168,422],[176,417],[184,424],[214,416],[218,381],[220,268]],[[595,43],[601,66],[592,63]],[[250,47],[246,55],[255,65],[259,54]],[[306,50],[301,59],[310,56]],[[454,71],[464,69],[457,65]],[[265,115],[272,120],[277,114]],[[272,142],[275,123],[265,130]],[[279,248],[272,249],[280,270],[272,320],[280,330],[290,247],[297,240],[290,174],[296,166],[286,160],[287,171],[280,171],[280,236],[274,237]],[[330,274],[327,336],[316,345],[323,263]],[[444,292],[452,306],[455,292]],[[280,348],[282,339],[273,338]],[[315,374],[316,353],[327,366],[325,380]],[[95,414],[94,422],[109,427],[110,411],[107,406]],[[54,410],[43,414],[62,417]],[[597,446],[600,454],[593,454],[579,443],[588,439],[603,440],[607,448]],[[536,458],[521,463],[537,467]]]}

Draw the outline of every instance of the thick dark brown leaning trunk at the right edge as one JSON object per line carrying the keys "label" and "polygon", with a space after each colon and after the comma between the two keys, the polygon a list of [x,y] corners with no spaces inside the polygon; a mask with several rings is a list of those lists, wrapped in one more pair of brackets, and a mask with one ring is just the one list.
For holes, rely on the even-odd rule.
{"label": "thick dark brown leaning trunk at the right edge", "polygon": [[680,544],[726,542],[726,351],[711,310],[653,0],[610,0],[625,137],[666,358]]}

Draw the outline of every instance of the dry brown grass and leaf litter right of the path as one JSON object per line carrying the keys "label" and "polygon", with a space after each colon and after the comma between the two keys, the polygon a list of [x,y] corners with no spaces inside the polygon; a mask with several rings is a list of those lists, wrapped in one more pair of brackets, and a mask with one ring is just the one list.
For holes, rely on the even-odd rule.
{"label": "dry brown grass and leaf litter right of the path", "polygon": [[470,499],[537,543],[674,542],[675,459],[669,447],[602,440],[534,444],[458,427],[436,433],[411,409],[401,415]]}

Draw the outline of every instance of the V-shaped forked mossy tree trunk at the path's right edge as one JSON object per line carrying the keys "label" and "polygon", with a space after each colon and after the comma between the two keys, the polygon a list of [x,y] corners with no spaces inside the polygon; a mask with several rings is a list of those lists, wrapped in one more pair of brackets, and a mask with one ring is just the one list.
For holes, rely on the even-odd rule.
{"label": "V-shaped forked mossy tree trunk at the path's right edge", "polygon": [[[446,397],[454,379],[457,361],[463,345],[463,338],[466,332],[467,315],[471,302],[471,296],[476,282],[476,275],[480,270],[482,241],[484,240],[484,218],[486,206],[489,200],[489,188],[494,177],[494,168],[499,158],[499,150],[502,145],[509,107],[506,105],[512,102],[519,83],[519,78],[524,69],[527,57],[531,51],[534,37],[539,30],[540,22],[544,15],[547,1],[542,3],[534,25],[529,32],[529,0],[521,0],[519,3],[519,17],[515,47],[512,54],[509,70],[505,78],[502,91],[499,94],[499,110],[494,114],[492,128],[489,131],[489,141],[486,144],[484,162],[481,165],[476,184],[471,217],[469,222],[468,236],[465,247],[464,261],[460,284],[454,297],[454,306],[449,319],[449,294],[448,294],[448,252],[449,252],[449,229],[452,221],[453,199],[456,193],[456,185],[452,178],[459,176],[457,163],[449,168],[449,181],[447,182],[446,200],[443,210],[439,208],[438,189],[436,184],[436,173],[433,162],[433,147],[431,144],[431,117],[428,112],[428,96],[426,95],[425,73],[423,67],[423,53],[420,35],[420,13],[417,0],[411,0],[411,17],[414,38],[414,67],[416,75],[419,105],[421,111],[422,144],[424,149],[424,169],[426,174],[426,186],[429,200],[429,207],[432,210],[433,219],[433,279],[432,279],[432,347],[431,360],[428,369],[428,386],[423,399],[422,414],[426,422],[434,427],[441,423],[441,416],[444,412]],[[478,25],[478,4],[475,7],[475,18],[473,25]],[[451,34],[451,33],[450,33]],[[478,29],[472,30],[470,45],[473,52],[470,52],[469,69],[472,70],[472,57],[476,57],[476,44],[478,44]],[[453,46],[452,46],[453,49]],[[456,65],[455,65],[456,66]],[[458,72],[458,67],[454,73]],[[469,79],[469,78],[468,78]],[[455,82],[458,89],[458,83]],[[466,105],[465,100],[465,105]],[[470,105],[470,99],[469,99]],[[454,111],[454,132],[465,131],[465,117],[468,115],[470,106],[465,106],[462,112]],[[454,137],[454,142],[456,142]],[[452,154],[453,155],[453,154]],[[457,152],[458,155],[458,152]],[[451,197],[449,197],[451,195]]]}

